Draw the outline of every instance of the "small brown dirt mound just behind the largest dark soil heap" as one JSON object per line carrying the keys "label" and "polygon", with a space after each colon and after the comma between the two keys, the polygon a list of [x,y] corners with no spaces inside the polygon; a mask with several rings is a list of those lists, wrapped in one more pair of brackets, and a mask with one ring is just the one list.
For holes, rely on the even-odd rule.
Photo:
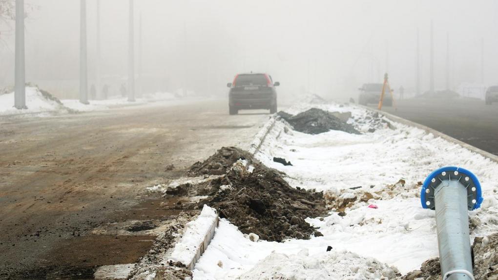
{"label": "small brown dirt mound just behind the largest dark soil heap", "polygon": [[223,147],[204,162],[196,162],[190,167],[191,176],[202,175],[223,175],[239,159],[249,159],[252,156],[249,152],[236,147]]}

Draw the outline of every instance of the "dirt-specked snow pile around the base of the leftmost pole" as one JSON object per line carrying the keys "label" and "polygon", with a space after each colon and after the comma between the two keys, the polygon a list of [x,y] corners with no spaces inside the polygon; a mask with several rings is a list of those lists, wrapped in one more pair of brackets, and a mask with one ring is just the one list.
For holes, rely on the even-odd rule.
{"label": "dirt-specked snow pile around the base of the leftmost pole", "polygon": [[27,109],[16,109],[14,107],[14,93],[0,94],[0,115],[19,115],[44,113],[52,111],[67,112],[59,99],[50,93],[40,91],[37,87],[26,87],[26,107]]}

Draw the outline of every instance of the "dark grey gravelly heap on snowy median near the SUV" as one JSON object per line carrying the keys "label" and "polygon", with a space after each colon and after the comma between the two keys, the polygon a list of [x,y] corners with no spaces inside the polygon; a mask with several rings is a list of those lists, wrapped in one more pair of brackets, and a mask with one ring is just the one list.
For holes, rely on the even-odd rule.
{"label": "dark grey gravelly heap on snowy median near the SUV", "polygon": [[342,121],[330,112],[318,108],[311,108],[297,115],[291,115],[282,111],[277,114],[292,125],[294,130],[307,134],[320,134],[330,130],[361,134],[351,124]]}

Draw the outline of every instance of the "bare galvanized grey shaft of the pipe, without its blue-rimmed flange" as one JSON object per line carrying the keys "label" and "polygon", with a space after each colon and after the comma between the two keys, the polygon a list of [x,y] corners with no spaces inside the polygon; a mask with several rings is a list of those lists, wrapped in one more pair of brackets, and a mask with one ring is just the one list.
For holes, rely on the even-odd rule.
{"label": "bare galvanized grey shaft of the pipe, without its blue-rimmed flange", "polygon": [[[459,181],[446,180],[436,188],[434,202],[442,275],[447,280],[470,280],[472,257],[469,238],[467,188]],[[459,272],[460,271],[460,272]]]}

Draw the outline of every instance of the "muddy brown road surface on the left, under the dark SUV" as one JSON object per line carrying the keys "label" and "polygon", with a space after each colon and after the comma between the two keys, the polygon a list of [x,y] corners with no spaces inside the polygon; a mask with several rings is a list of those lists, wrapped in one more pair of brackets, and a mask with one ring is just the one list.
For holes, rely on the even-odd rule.
{"label": "muddy brown road surface on the left, under the dark SUV", "polygon": [[91,278],[97,266],[135,262],[154,236],[91,230],[168,214],[146,187],[222,146],[247,149],[267,119],[229,116],[228,100],[0,118],[0,278]]}

